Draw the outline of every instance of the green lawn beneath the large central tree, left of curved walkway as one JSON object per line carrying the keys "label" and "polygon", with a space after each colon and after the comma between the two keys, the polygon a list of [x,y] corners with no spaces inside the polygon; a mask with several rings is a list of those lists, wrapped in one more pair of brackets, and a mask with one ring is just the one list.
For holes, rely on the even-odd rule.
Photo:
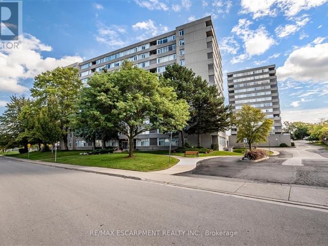
{"label": "green lawn beneath the large central tree, left of curved walkway", "polygon": [[[171,163],[169,165],[168,156],[137,151],[134,152],[134,158],[125,158],[128,156],[127,152],[101,155],[79,155],[80,152],[85,151],[57,151],[57,162],[80,166],[116,168],[142,172],[168,169],[179,162],[178,159],[171,157]],[[11,156],[24,159],[28,158],[27,153]],[[51,152],[30,152],[30,159],[55,162],[55,156],[52,155]]]}

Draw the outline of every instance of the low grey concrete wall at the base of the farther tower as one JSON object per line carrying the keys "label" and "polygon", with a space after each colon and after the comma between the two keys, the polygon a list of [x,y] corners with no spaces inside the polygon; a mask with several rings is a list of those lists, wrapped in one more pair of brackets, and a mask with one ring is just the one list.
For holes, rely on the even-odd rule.
{"label": "low grey concrete wall at the base of the farther tower", "polygon": [[[229,146],[230,147],[243,147],[243,142],[236,142],[236,135],[229,136]],[[267,142],[260,142],[256,146],[258,147],[277,147],[280,144],[286,144],[291,146],[291,135],[289,133],[282,134],[272,134],[267,138]]]}

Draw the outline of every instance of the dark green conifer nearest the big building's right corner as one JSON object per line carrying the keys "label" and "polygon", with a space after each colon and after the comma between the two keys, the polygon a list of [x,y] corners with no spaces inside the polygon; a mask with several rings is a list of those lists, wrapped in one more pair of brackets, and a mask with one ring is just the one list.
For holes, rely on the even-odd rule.
{"label": "dark green conifer nearest the big building's right corner", "polygon": [[201,134],[229,130],[233,117],[231,106],[224,106],[217,87],[209,86],[200,76],[194,79],[190,115],[187,132],[197,135],[198,146]]}

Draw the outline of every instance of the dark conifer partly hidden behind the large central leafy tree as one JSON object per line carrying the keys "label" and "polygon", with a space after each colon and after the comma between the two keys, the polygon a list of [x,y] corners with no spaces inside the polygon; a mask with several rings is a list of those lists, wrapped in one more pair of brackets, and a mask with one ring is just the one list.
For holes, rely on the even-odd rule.
{"label": "dark conifer partly hidden behind the large central leafy tree", "polygon": [[[185,66],[179,66],[176,63],[167,66],[166,71],[163,73],[163,77],[169,79],[168,86],[173,87],[178,98],[185,99],[188,104],[191,104],[195,76],[195,73],[191,69]],[[184,133],[183,130],[180,131],[182,147],[185,147]]]}

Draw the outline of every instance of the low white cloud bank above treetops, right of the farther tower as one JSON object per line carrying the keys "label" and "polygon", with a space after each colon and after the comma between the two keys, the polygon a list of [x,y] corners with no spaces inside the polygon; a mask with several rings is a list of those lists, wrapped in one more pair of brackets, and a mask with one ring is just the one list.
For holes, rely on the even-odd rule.
{"label": "low white cloud bank above treetops, right of the farther tower", "polygon": [[328,107],[317,109],[281,109],[283,121],[319,122],[320,118],[328,118]]}

